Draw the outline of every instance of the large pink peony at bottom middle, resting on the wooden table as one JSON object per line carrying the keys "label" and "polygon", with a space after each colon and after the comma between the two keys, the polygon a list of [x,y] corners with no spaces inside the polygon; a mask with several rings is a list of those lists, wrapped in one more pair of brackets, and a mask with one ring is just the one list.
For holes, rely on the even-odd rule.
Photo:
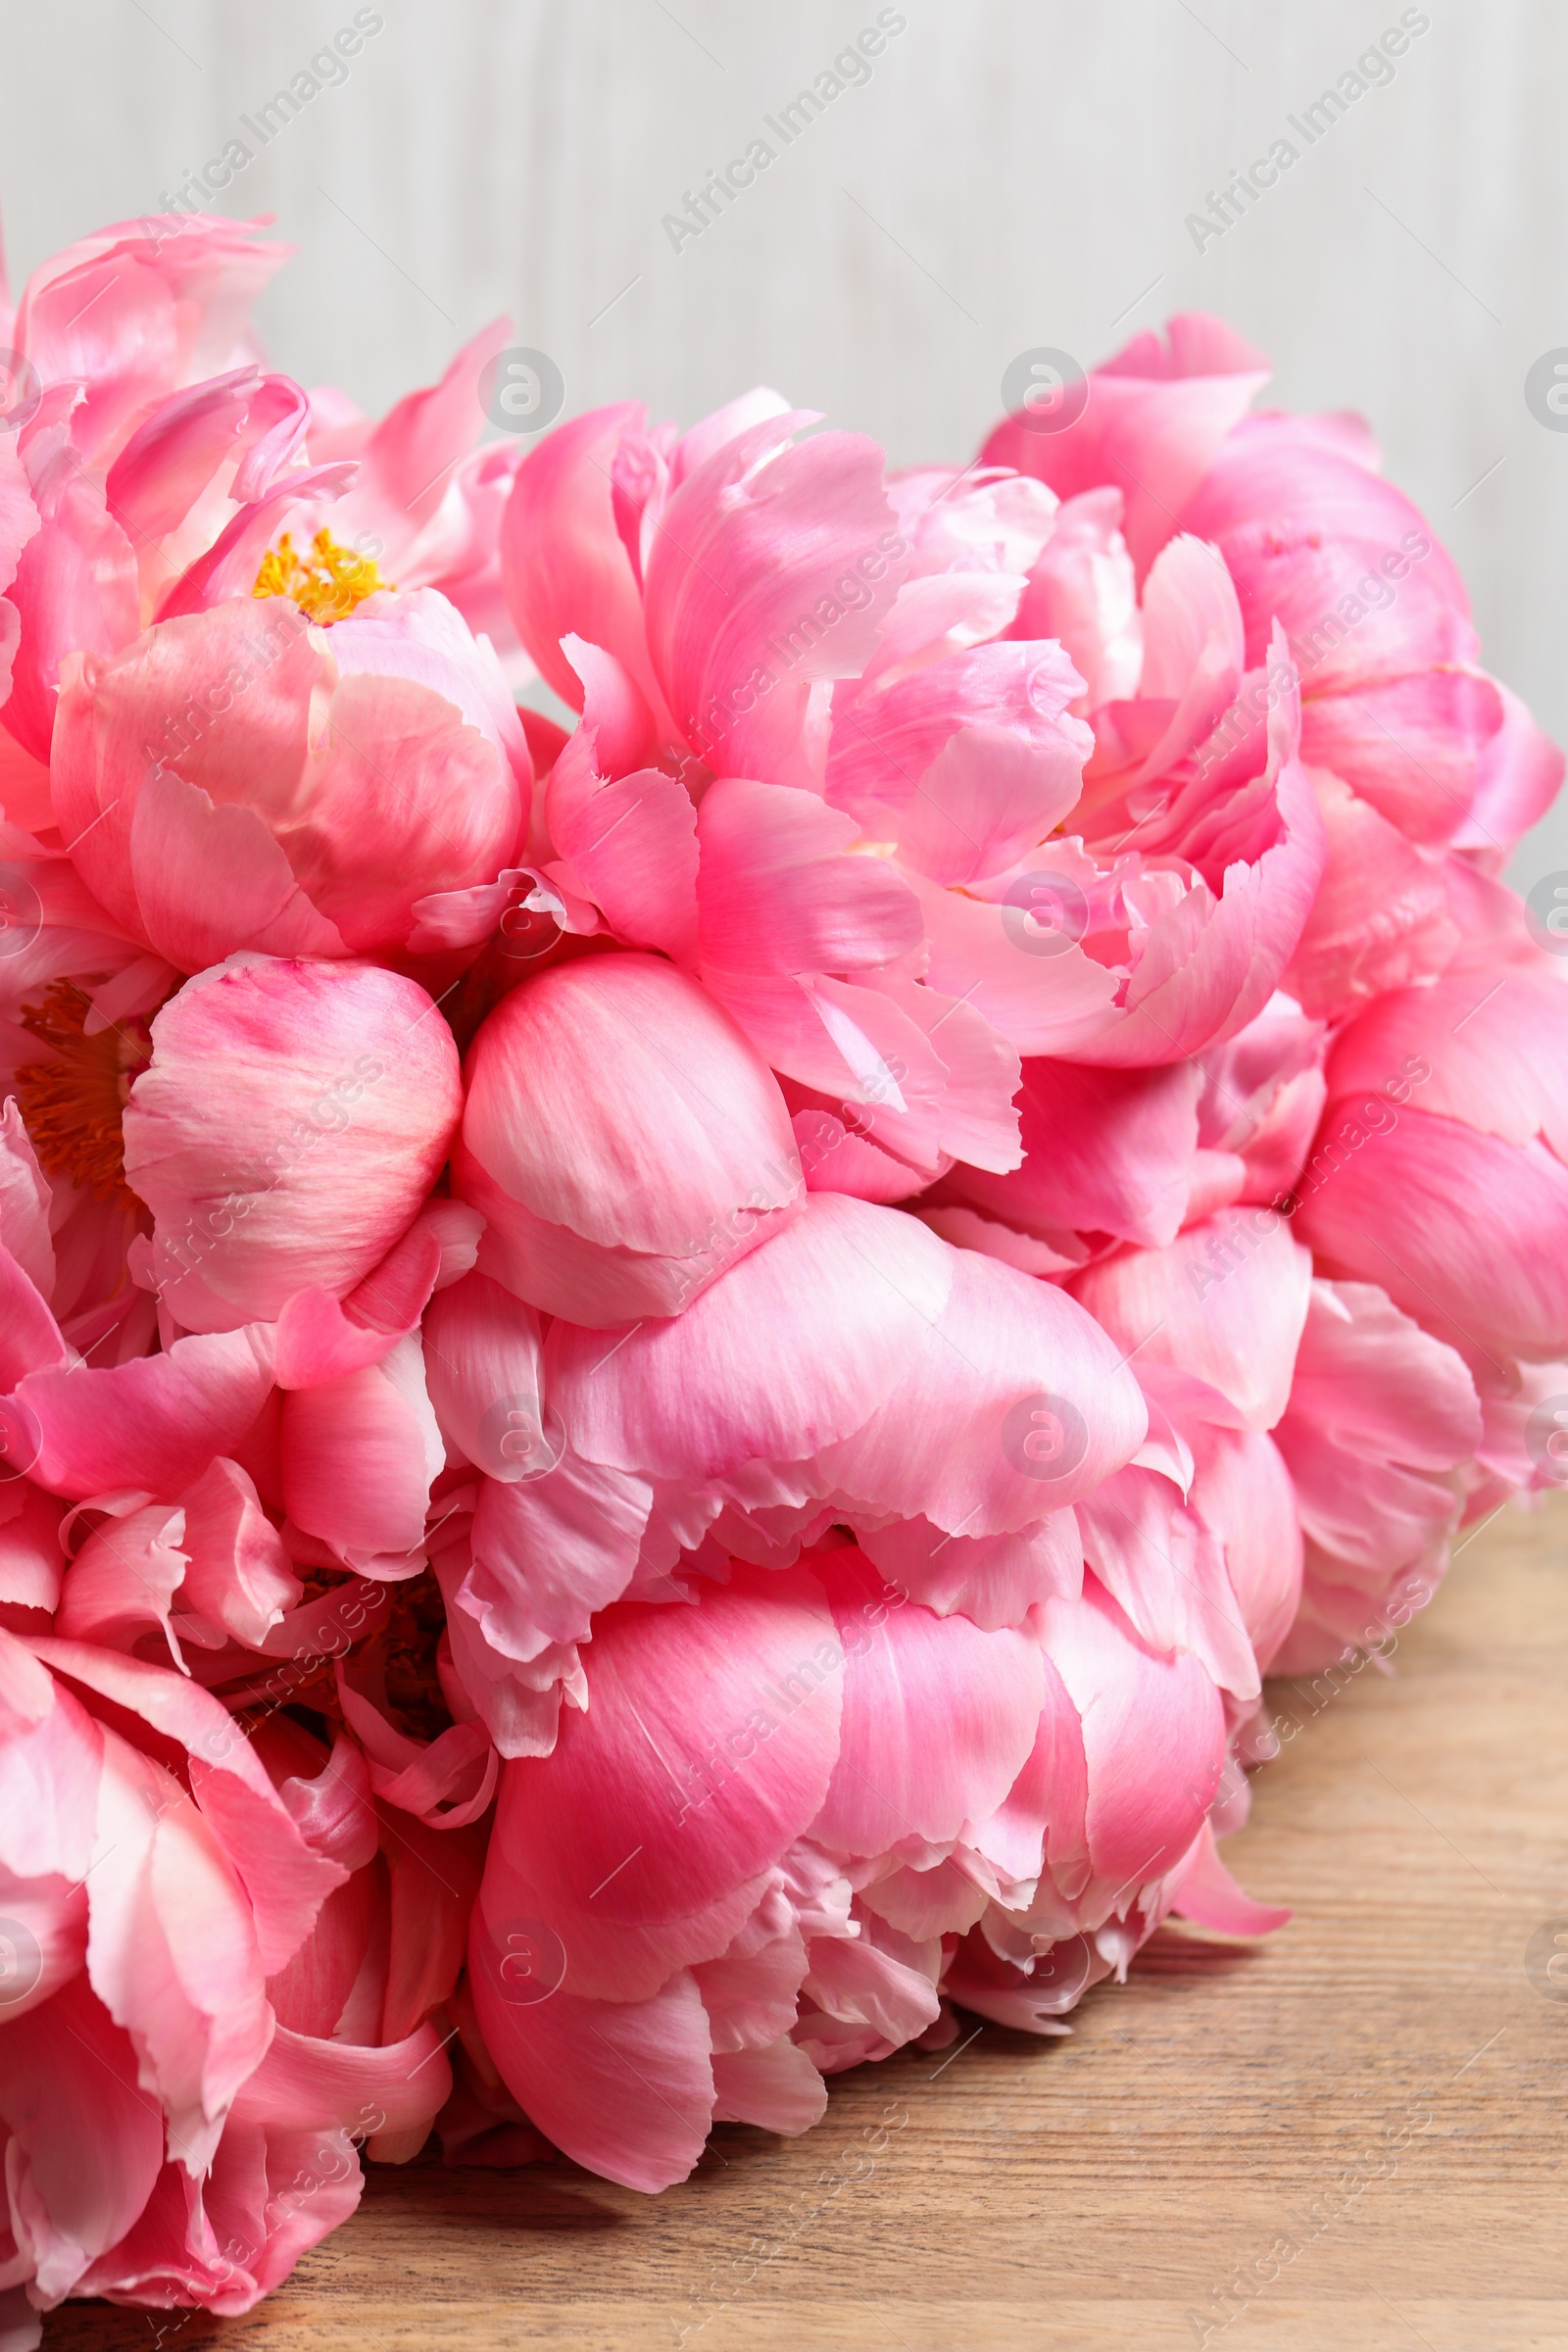
{"label": "large pink peony at bottom middle, resting on the wooden table", "polygon": [[550,1757],[505,1766],[470,1985],[527,2114],[644,2190],[712,2122],[804,2131],[823,2072],[940,2037],[976,1919],[1023,1985],[1060,1938],[1124,1971],[1225,1759],[1197,1661],[1154,1658],[1093,1585],[983,1632],[853,1545],[609,1611],[588,1686]]}

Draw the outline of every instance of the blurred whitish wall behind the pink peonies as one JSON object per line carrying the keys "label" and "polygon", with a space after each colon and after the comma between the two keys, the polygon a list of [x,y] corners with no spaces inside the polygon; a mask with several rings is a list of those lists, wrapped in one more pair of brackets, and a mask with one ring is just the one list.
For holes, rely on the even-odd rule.
{"label": "blurred whitish wall behind the pink peonies", "polygon": [[[334,33],[292,120],[252,125]],[[755,381],[969,459],[1030,346],[1084,365],[1182,308],[1272,353],[1267,395],[1359,407],[1465,569],[1488,666],[1568,741],[1568,430],[1523,397],[1568,346],[1561,0],[900,0],[870,78],[792,143],[764,127],[879,0],[0,0],[12,280],[165,207],[240,139],[212,209],[277,214],[273,360],[381,409],[508,310],[567,414],[691,421]],[[1312,146],[1288,118],[1415,28]],[[322,80],[327,68],[322,68]],[[1321,120],[1321,118],[1319,118]],[[778,151],[672,247],[684,193]],[[1201,249],[1187,214],[1288,139],[1300,160]],[[1568,423],[1568,419],[1563,419]],[[1521,887],[1568,866],[1559,807]]]}

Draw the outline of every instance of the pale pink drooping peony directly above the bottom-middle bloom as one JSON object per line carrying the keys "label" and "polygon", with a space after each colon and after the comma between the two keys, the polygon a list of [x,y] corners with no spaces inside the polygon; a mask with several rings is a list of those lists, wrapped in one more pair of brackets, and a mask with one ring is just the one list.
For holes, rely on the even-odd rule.
{"label": "pale pink drooping peony directly above the bottom-middle bloom", "polygon": [[442,1569],[454,1653],[510,1755],[548,1750],[559,1686],[581,1703],[595,1611],[679,1599],[729,1555],[788,1566],[835,1524],[933,1606],[1023,1621],[1077,1590],[1070,1505],[1147,1425],[1063,1291],[832,1192],[677,1317],[541,1343],[473,1282],[437,1301],[428,1357],[487,1472]]}

